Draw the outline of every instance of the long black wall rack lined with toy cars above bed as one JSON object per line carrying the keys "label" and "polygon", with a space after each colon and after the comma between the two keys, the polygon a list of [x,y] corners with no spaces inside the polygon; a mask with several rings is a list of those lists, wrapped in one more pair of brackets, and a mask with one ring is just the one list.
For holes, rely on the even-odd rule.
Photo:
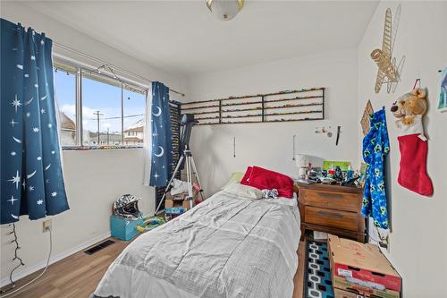
{"label": "long black wall rack lined with toy cars above bed", "polygon": [[195,115],[198,125],[323,120],[325,88],[190,101],[181,104],[185,113]]}

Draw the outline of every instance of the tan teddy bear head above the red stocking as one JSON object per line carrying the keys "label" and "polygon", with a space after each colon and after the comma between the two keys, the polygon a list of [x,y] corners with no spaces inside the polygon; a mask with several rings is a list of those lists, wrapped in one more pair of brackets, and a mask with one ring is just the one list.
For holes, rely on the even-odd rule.
{"label": "tan teddy bear head above the red stocking", "polygon": [[[398,118],[399,122],[403,125],[412,125],[419,119],[422,115],[426,114],[427,103],[426,103],[426,89],[417,88],[411,90],[395,101],[392,104],[391,111],[394,117]],[[417,115],[420,115],[417,117]],[[421,119],[420,119],[421,120]]]}

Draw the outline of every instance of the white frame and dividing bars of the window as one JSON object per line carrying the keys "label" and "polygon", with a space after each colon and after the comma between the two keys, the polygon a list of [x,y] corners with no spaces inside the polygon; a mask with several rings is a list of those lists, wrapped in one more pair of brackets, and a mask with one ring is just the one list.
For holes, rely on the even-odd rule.
{"label": "white frame and dividing bars of the window", "polygon": [[[91,67],[87,64],[75,63],[60,57],[54,57],[53,69],[62,72],[69,72],[75,75],[75,145],[61,146],[63,150],[71,149],[141,149],[142,145],[125,145],[124,144],[124,89],[147,95],[148,86],[142,83],[132,81],[121,74],[119,78],[113,71],[107,71],[107,66],[103,65],[98,68]],[[121,145],[84,145],[83,144],[83,125],[82,125],[82,78],[99,81],[104,84],[113,85],[121,88]],[[57,99],[57,98],[56,98]],[[146,109],[143,111],[145,114]]]}

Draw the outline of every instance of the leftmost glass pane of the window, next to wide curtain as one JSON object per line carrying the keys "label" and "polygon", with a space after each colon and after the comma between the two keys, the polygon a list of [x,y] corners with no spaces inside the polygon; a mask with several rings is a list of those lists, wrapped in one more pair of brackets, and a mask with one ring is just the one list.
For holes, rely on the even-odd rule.
{"label": "leftmost glass pane of the window, next to wide curtain", "polygon": [[[71,70],[72,71],[72,70]],[[54,69],[55,98],[59,108],[62,146],[76,145],[76,75]],[[40,111],[45,113],[45,110]]]}

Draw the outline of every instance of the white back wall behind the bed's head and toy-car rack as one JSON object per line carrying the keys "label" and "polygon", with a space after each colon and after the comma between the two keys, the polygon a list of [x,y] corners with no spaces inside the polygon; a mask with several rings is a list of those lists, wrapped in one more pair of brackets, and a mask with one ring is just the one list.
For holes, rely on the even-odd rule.
{"label": "white back wall behind the bed's head and toy-car rack", "polygon": [[[191,137],[198,172],[207,195],[223,186],[232,172],[247,166],[265,166],[297,176],[292,158],[293,135],[296,152],[328,160],[358,157],[358,61],[356,49],[308,55],[256,64],[223,72],[204,73],[190,78],[190,99],[204,100],[287,89],[325,87],[324,121],[288,123],[244,123],[203,125]],[[316,126],[332,126],[333,137],[316,134]],[[336,126],[342,126],[335,146]],[[236,158],[232,138],[236,137]]]}

